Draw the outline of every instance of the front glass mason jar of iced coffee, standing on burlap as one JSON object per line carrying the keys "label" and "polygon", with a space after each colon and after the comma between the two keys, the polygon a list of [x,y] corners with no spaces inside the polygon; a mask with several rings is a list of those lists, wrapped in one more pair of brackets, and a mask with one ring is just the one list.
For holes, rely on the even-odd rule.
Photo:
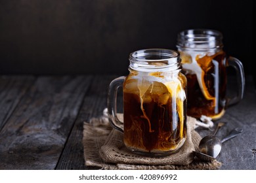
{"label": "front glass mason jar of iced coffee, standing on burlap", "polygon": [[[186,140],[186,77],[179,52],[138,50],[130,54],[129,75],[114,79],[108,115],[123,132],[125,146],[144,156],[167,156]],[[117,88],[123,86],[123,122],[116,115]]]}

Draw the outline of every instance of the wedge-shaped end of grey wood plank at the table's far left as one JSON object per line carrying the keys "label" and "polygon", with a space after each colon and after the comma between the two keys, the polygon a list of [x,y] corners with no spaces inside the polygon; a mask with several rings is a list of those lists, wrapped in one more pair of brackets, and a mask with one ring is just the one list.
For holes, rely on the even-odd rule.
{"label": "wedge-shaped end of grey wood plank at the table's far left", "polygon": [[0,76],[0,131],[33,82],[33,76]]}

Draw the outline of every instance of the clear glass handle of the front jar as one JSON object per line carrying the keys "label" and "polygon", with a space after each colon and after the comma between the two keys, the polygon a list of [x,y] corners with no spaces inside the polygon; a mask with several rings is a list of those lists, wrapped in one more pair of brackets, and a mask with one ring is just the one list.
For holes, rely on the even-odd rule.
{"label": "clear glass handle of the front jar", "polygon": [[120,76],[119,78],[112,80],[108,88],[108,118],[112,127],[121,132],[123,132],[123,122],[121,122],[116,115],[116,99],[117,90],[120,86],[123,85],[124,81],[125,76]]}

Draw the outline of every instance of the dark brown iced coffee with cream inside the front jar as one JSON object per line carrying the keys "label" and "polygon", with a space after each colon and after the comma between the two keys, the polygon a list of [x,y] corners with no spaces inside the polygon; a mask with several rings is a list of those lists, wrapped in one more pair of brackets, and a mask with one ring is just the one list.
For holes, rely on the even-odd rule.
{"label": "dark brown iced coffee with cream inside the front jar", "polygon": [[128,79],[123,84],[125,145],[140,152],[175,150],[186,139],[186,99],[181,99],[186,88],[175,83],[138,83]]}

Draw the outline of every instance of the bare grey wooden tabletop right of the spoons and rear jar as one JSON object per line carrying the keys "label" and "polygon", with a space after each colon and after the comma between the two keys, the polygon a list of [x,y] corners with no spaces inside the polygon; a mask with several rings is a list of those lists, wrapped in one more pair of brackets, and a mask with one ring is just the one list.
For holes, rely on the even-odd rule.
{"label": "bare grey wooden tabletop right of the spoons and rear jar", "polygon": [[[235,90],[236,84],[233,83]],[[229,86],[232,88],[232,84]],[[221,169],[256,169],[256,93],[251,76],[246,77],[245,96],[240,103],[228,107],[223,118],[217,122],[228,122],[217,136],[223,138],[235,127],[242,127],[243,133],[223,143],[221,154],[217,157],[223,163]],[[211,133],[200,130],[202,136]]]}

